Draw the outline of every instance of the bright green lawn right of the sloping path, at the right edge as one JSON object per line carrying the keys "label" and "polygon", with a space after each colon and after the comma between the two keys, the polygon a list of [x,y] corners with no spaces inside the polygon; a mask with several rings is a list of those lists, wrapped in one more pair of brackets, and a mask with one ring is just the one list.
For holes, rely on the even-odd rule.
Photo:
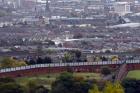
{"label": "bright green lawn right of the sloping path, at the right edge", "polygon": [[129,71],[126,78],[134,78],[140,80],[140,70]]}

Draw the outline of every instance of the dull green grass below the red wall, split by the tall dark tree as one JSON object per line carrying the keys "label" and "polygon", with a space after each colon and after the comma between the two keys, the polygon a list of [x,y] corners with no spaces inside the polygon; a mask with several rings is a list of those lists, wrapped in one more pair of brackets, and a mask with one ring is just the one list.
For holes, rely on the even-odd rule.
{"label": "dull green grass below the red wall, split by the tall dark tree", "polygon": [[[74,73],[74,76],[80,76],[84,79],[97,79],[99,80],[100,74],[98,73]],[[21,85],[26,85],[28,81],[37,81],[40,85],[45,85],[46,87],[50,88],[51,84],[56,80],[59,74],[49,74],[49,75],[39,75],[39,76],[32,76],[32,77],[21,77],[17,78],[17,82]]]}

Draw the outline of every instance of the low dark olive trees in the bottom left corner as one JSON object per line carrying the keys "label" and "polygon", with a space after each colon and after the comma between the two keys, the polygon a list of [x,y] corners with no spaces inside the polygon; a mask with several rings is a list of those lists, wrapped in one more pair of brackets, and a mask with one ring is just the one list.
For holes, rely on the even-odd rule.
{"label": "low dark olive trees in the bottom left corner", "polygon": [[12,78],[0,78],[0,93],[49,93],[49,90],[36,81],[20,85]]}

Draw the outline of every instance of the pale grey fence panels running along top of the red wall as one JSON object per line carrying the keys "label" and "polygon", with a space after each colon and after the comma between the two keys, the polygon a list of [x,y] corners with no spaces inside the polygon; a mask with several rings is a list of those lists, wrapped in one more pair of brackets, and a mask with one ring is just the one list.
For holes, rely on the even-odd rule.
{"label": "pale grey fence panels running along top of the red wall", "polygon": [[0,73],[28,70],[33,68],[52,68],[52,67],[71,67],[71,66],[103,66],[103,65],[117,65],[117,64],[140,64],[140,60],[126,60],[126,61],[102,61],[102,62],[72,62],[72,63],[51,63],[51,64],[35,64],[14,68],[4,68],[0,70]]}

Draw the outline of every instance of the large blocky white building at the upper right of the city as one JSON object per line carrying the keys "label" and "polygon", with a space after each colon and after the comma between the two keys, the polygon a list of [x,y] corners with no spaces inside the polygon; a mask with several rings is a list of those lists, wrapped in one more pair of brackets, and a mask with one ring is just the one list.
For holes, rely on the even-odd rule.
{"label": "large blocky white building at the upper right of the city", "polygon": [[131,13],[130,11],[130,3],[128,2],[116,2],[114,4],[115,13],[118,13],[120,16],[123,16],[127,13]]}

